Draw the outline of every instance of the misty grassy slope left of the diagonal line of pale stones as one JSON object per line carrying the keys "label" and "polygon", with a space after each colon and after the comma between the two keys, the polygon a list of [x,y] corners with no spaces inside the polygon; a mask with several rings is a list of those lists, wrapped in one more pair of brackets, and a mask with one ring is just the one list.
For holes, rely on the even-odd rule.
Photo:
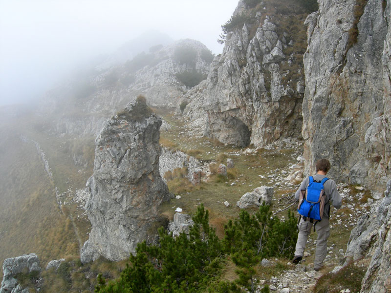
{"label": "misty grassy slope left of the diagonal line of pale stones", "polygon": [[0,167],[0,262],[35,252],[41,261],[77,252],[69,221],[61,213],[55,187],[32,143],[4,128]]}

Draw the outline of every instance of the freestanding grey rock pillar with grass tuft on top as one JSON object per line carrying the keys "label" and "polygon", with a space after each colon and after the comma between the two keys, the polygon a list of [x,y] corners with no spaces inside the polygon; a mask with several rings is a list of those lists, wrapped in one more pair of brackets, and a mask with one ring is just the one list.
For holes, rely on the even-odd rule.
{"label": "freestanding grey rock pillar with grass tuft on top", "polygon": [[94,174],[87,182],[92,230],[81,251],[83,263],[99,255],[125,259],[137,243],[156,235],[163,221],[157,209],[169,200],[158,170],[160,125],[161,119],[138,97],[97,137]]}

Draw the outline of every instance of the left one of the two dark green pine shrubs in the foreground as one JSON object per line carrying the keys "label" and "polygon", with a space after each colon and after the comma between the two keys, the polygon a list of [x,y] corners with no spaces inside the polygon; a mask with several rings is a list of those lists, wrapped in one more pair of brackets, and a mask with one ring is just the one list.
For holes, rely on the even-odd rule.
{"label": "left one of the two dark green pine shrubs in the foreground", "polygon": [[209,226],[209,213],[201,205],[193,217],[189,235],[174,238],[159,230],[159,246],[137,245],[131,265],[121,277],[105,284],[100,276],[95,292],[195,292],[207,290],[219,268],[220,242]]}

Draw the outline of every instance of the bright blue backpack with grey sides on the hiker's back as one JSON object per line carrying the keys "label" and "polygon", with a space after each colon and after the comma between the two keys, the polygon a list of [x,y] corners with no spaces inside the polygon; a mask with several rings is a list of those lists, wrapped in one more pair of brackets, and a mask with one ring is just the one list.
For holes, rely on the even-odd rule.
{"label": "bright blue backpack with grey sides on the hiker's back", "polygon": [[312,176],[308,178],[309,184],[305,190],[301,190],[297,211],[303,216],[304,221],[307,219],[310,219],[310,222],[320,221],[322,220],[326,200],[323,185],[328,178],[323,178],[321,182],[314,181]]}

